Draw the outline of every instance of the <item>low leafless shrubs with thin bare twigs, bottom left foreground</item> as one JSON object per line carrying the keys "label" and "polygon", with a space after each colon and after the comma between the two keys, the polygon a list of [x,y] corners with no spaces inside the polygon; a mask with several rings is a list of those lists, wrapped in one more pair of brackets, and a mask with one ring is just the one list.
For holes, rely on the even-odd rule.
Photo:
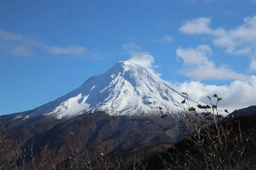
{"label": "low leafless shrubs with thin bare twigs, bottom left foreground", "polygon": [[[2,117],[1,117],[2,118]],[[48,139],[45,140],[44,146],[42,141],[37,141],[30,136],[18,141],[15,138],[14,129],[8,130],[8,124],[2,122],[0,129],[0,157],[6,159],[0,160],[0,169],[15,170],[145,170],[147,162],[145,156],[139,158],[138,151],[134,152],[134,157],[130,163],[125,162],[120,154],[114,154],[111,158],[110,149],[96,144],[96,140],[89,144],[87,148],[80,148],[77,139],[72,132],[69,132],[69,142],[63,147],[58,143],[55,147],[50,148]],[[67,134],[68,135],[68,134]],[[39,147],[36,145],[39,142]],[[80,151],[82,150],[82,151]]]}

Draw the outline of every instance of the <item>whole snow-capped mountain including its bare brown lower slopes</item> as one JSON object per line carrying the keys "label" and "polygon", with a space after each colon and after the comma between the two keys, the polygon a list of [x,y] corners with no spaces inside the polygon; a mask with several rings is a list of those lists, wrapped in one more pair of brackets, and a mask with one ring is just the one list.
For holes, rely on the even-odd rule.
{"label": "whole snow-capped mountain including its bare brown lower slopes", "polygon": [[[184,98],[151,70],[121,61],[74,91],[33,110],[4,115],[2,121],[10,122],[10,129],[15,128],[15,138],[48,138],[50,147],[58,142],[66,145],[69,132],[76,136],[80,149],[88,146],[85,139],[96,139],[112,151],[141,144],[158,146],[159,142],[181,140],[177,131],[163,130],[174,125],[161,118],[159,106],[164,113],[184,118]],[[189,104],[196,109],[198,104],[205,105],[191,97]]]}

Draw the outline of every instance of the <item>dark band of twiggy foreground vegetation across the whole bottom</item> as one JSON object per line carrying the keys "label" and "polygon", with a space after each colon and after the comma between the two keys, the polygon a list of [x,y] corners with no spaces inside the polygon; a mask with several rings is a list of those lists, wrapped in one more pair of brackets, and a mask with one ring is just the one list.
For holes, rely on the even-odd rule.
{"label": "dark band of twiggy foreground vegetation across the whole bottom", "polygon": [[[187,95],[186,93],[183,93]],[[2,123],[0,134],[0,169],[15,170],[92,170],[92,169],[170,169],[170,170],[243,170],[256,169],[256,144],[254,122],[256,116],[233,119],[233,115],[222,115],[217,110],[221,98],[216,94],[216,104],[198,105],[203,113],[189,105],[187,98],[181,101],[185,117],[178,120],[165,114],[159,107],[163,121],[169,121],[174,128],[164,131],[177,131],[181,138],[172,148],[161,145],[163,153],[146,157],[133,148],[133,156],[123,160],[120,154],[111,152],[107,146],[89,141],[87,148],[78,146],[76,137],[69,132],[67,145],[61,143],[49,148],[48,139],[25,136],[17,140],[14,129]],[[186,108],[187,109],[186,109]],[[227,110],[225,112],[228,113]],[[3,156],[4,155],[4,156]]]}

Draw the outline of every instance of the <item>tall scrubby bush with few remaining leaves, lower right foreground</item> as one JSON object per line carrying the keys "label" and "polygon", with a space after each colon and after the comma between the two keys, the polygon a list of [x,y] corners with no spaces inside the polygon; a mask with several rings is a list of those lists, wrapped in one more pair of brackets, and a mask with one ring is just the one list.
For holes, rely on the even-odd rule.
{"label": "tall scrubby bush with few remaining leaves, lower right foreground", "polygon": [[[183,93],[187,95],[186,93]],[[216,94],[215,105],[208,96],[211,106],[197,105],[204,112],[199,113],[189,105],[188,95],[181,103],[185,110],[185,117],[177,119],[175,116],[163,113],[162,118],[169,121],[182,137],[182,141],[173,148],[162,148],[169,157],[161,157],[162,166],[166,169],[179,170],[243,170],[256,169],[256,145],[254,129],[242,131],[239,119],[233,115],[220,114],[217,104],[222,99]],[[187,109],[185,109],[185,106]],[[164,128],[168,130],[168,128]]]}

